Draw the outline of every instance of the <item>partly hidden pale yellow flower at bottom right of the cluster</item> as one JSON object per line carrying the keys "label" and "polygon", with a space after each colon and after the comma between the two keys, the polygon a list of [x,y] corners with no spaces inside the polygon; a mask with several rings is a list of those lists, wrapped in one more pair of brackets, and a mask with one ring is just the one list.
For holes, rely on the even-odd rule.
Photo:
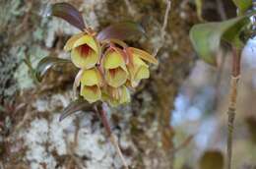
{"label": "partly hidden pale yellow flower at bottom right of the cluster", "polygon": [[114,107],[131,101],[129,89],[125,85],[119,87],[107,86],[102,98]]}

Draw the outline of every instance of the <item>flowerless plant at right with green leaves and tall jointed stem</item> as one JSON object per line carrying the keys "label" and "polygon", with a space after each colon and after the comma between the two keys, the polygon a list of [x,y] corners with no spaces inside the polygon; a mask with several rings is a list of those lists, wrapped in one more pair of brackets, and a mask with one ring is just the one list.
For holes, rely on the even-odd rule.
{"label": "flowerless plant at right with green leaves and tall jointed stem", "polygon": [[[224,22],[199,24],[191,28],[190,38],[198,55],[205,62],[218,66],[217,53],[222,44],[232,50],[232,73],[228,106],[227,169],[231,168],[232,131],[236,111],[237,84],[240,78],[241,50],[249,38],[255,36],[256,1],[233,0],[237,17]],[[226,45],[225,45],[226,48]]]}

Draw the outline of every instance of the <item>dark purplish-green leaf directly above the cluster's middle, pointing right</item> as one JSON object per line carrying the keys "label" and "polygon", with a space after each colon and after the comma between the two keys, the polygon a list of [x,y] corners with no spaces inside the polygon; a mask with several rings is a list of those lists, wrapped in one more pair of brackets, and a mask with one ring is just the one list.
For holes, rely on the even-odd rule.
{"label": "dark purplish-green leaf directly above the cluster's middle, pointing right", "polygon": [[98,32],[96,38],[100,41],[106,39],[127,40],[143,34],[145,34],[145,30],[138,23],[124,22],[103,28]]}

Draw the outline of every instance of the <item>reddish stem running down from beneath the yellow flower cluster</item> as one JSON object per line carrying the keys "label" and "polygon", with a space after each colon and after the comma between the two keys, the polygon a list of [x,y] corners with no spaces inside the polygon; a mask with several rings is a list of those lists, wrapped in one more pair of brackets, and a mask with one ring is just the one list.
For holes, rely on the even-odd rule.
{"label": "reddish stem running down from beneath the yellow flower cluster", "polygon": [[109,137],[109,140],[114,145],[114,147],[115,147],[115,149],[117,151],[117,154],[120,156],[125,169],[129,169],[129,167],[128,167],[126,161],[125,161],[125,158],[124,158],[124,156],[122,154],[122,151],[121,151],[121,149],[120,149],[120,147],[118,145],[118,142],[116,141],[115,136],[111,132],[111,128],[110,128],[110,125],[109,125],[109,123],[107,121],[106,112],[105,112],[105,110],[103,108],[103,105],[100,104],[100,106],[96,110],[97,110],[97,112],[98,112],[98,114],[100,116],[100,120],[101,120],[101,122],[102,122],[102,124],[103,124],[103,126],[105,128],[107,137]]}

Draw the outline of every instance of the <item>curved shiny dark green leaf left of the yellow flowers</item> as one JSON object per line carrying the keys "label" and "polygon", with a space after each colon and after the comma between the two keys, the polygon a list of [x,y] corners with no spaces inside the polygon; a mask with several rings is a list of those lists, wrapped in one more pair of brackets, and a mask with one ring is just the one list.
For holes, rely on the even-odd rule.
{"label": "curved shiny dark green leaf left of the yellow flowers", "polygon": [[41,82],[42,77],[47,73],[47,71],[53,67],[54,65],[60,64],[60,63],[70,63],[70,60],[67,59],[61,59],[56,58],[52,56],[44,57],[39,61],[35,68],[35,77],[38,82]]}

